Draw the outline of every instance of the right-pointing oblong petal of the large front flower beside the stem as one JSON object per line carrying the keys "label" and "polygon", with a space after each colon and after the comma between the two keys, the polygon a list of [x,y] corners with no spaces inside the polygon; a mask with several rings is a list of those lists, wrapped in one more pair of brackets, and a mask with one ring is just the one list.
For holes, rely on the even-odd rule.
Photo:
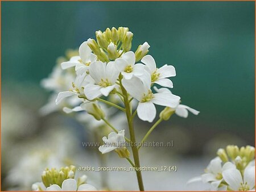
{"label": "right-pointing oblong petal of the large front flower beside the stem", "polygon": [[151,101],[156,105],[175,108],[179,105],[180,97],[170,93],[155,93]]}

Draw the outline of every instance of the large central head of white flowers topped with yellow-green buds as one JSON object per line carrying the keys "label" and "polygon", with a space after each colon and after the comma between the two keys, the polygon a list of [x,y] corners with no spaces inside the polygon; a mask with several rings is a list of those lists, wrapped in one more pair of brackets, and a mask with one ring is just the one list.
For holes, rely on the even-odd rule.
{"label": "large central head of white flowers topped with yellow-green buds", "polygon": [[[138,101],[138,117],[144,121],[152,122],[155,119],[155,105],[171,108],[183,117],[187,117],[187,110],[197,115],[199,111],[179,105],[180,97],[167,88],[153,93],[151,87],[154,84],[173,87],[169,77],[176,76],[175,68],[167,64],[157,68],[154,58],[146,55],[150,47],[147,42],[139,45],[137,51],[130,51],[132,39],[133,33],[128,28],[119,27],[117,30],[113,27],[112,30],[97,31],[96,40],[88,39],[82,43],[79,56],[73,56],[61,64],[63,69],[75,67],[76,79],[72,82],[72,89],[58,94],[56,103],[76,95],[82,99],[81,107],[75,106],[70,110],[88,111],[85,106],[89,106],[88,113],[100,120],[105,116],[97,101],[112,94],[119,95],[123,100],[124,93],[127,93],[129,102],[133,99]],[[138,61],[141,62],[136,63]]]}

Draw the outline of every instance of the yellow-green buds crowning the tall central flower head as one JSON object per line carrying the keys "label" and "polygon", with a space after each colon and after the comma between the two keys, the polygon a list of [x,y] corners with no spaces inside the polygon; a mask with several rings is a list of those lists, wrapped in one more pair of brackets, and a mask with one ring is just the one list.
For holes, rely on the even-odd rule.
{"label": "yellow-green buds crowning the tall central flower head", "polygon": [[[112,27],[111,30],[106,28],[104,32],[96,31],[96,40],[88,39],[87,42],[93,53],[97,55],[98,60],[108,62],[130,51],[132,40],[133,33],[129,31],[129,28],[119,27],[117,30]],[[148,48],[150,48],[150,45],[147,42],[139,45],[135,52],[136,61],[141,60],[147,54]]]}

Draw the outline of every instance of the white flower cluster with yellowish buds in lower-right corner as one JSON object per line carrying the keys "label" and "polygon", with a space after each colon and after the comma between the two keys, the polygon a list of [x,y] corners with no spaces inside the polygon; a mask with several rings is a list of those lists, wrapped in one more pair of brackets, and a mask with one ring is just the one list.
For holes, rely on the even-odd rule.
{"label": "white flower cluster with yellowish buds in lower-right corner", "polygon": [[228,145],[218,149],[217,157],[210,161],[205,173],[188,183],[202,181],[210,184],[212,191],[255,190],[255,148],[247,145],[238,148]]}

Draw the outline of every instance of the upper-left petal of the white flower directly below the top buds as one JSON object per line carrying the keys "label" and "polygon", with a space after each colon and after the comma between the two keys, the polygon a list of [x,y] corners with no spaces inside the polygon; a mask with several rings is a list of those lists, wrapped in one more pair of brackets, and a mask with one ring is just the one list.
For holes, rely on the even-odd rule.
{"label": "upper-left petal of the white flower directly below the top buds", "polygon": [[90,64],[89,66],[90,76],[98,84],[101,82],[101,79],[106,79],[106,63],[101,61],[96,61]]}

